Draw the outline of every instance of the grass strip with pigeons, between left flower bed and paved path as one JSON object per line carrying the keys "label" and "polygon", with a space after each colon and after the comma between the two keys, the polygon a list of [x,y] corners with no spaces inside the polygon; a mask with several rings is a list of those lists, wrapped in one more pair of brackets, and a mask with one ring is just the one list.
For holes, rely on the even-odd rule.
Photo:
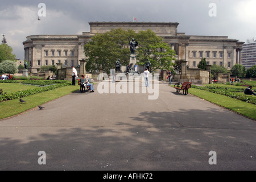
{"label": "grass strip with pigeons, between left flower bed and paved path", "polygon": [[0,119],[23,113],[24,111],[30,110],[38,105],[42,105],[46,102],[55,100],[56,98],[75,92],[78,89],[79,88],[77,86],[64,86],[47,92],[34,94],[32,96],[22,98],[27,101],[25,104],[20,104],[19,99],[0,102]]}

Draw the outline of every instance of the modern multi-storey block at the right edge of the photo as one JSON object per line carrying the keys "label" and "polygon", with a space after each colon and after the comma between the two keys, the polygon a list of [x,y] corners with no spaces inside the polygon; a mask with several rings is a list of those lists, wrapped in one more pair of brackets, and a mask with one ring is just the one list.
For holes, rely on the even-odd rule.
{"label": "modern multi-storey block at the right edge of the photo", "polygon": [[245,69],[249,69],[256,65],[256,40],[247,40],[243,44],[242,50],[242,65],[245,66]]}

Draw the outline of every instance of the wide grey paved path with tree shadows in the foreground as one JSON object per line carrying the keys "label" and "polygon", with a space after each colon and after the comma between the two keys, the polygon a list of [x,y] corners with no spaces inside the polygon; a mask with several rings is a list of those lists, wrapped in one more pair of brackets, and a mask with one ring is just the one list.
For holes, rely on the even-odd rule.
{"label": "wide grey paved path with tree shadows in the foreground", "polygon": [[256,169],[255,121],[165,84],[158,100],[96,89],[44,107],[0,121],[0,170]]}

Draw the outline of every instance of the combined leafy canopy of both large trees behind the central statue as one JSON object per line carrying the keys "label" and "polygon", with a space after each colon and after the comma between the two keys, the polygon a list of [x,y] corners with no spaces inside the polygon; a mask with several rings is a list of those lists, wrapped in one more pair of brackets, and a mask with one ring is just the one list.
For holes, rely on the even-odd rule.
{"label": "combined leafy canopy of both large trees behind the central statue", "polygon": [[120,59],[121,65],[130,61],[129,41],[134,38],[139,43],[136,49],[138,65],[145,65],[147,59],[151,62],[151,72],[155,69],[170,69],[175,60],[175,51],[163,39],[156,36],[151,30],[139,31],[112,29],[105,34],[96,34],[92,41],[85,44],[84,51],[88,63],[87,70],[109,72]]}

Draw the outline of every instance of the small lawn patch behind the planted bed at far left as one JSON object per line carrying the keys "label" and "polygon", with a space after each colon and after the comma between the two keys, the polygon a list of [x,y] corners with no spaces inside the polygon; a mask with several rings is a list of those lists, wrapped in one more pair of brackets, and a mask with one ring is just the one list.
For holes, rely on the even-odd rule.
{"label": "small lawn patch behind the planted bed at far left", "polygon": [[33,89],[36,88],[36,86],[33,85],[22,85],[22,84],[0,84],[0,89],[3,89],[3,93],[13,93],[13,92],[18,92],[20,90],[28,90],[28,89]]}

